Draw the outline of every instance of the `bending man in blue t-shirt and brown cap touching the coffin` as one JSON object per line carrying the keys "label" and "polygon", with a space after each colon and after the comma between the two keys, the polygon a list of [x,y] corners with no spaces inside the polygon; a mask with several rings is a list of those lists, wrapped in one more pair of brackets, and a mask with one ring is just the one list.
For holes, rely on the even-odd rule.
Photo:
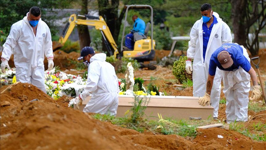
{"label": "bending man in blue t-shirt and brown cap touching the coffin", "polygon": [[250,100],[260,98],[255,70],[250,65],[247,50],[238,44],[223,44],[211,55],[206,93],[199,98],[199,104],[205,106],[210,102],[211,88],[215,77],[216,67],[223,70],[223,93],[226,97],[227,123],[234,121],[248,121],[248,92],[250,78],[253,83]]}

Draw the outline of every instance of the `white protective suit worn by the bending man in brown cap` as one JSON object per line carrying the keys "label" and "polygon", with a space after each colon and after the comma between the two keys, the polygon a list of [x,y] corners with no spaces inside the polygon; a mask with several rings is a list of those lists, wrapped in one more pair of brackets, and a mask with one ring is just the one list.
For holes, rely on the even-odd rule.
{"label": "white protective suit worn by the bending man in brown cap", "polygon": [[[246,48],[241,45],[243,55],[250,62]],[[223,72],[223,93],[226,97],[227,123],[248,121],[248,95],[250,91],[250,75],[241,67],[235,71]],[[216,74],[215,74],[216,76]]]}

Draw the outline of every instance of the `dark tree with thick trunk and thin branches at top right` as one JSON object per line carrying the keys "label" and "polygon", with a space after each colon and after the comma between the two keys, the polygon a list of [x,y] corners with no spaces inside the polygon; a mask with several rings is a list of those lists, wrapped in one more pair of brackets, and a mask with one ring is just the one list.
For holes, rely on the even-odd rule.
{"label": "dark tree with thick trunk and thin branches at top right", "polygon": [[232,0],[231,6],[235,43],[247,47],[252,55],[258,54],[258,35],[266,24],[266,4],[264,0]]}

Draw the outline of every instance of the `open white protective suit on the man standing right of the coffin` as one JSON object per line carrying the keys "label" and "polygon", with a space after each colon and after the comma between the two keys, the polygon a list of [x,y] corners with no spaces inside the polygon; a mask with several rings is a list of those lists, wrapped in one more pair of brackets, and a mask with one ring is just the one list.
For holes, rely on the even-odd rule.
{"label": "open white protective suit on the man standing right of the coffin", "polygon": [[[224,43],[232,43],[231,30],[226,23],[213,12],[218,23],[215,23],[206,49],[205,61],[203,60],[203,19],[194,23],[191,31],[191,40],[188,43],[187,57],[193,59],[193,96],[203,97],[206,91],[206,82],[209,72],[211,54]],[[213,87],[211,90],[211,106],[214,107],[213,117],[218,117],[222,71],[216,69]]]}

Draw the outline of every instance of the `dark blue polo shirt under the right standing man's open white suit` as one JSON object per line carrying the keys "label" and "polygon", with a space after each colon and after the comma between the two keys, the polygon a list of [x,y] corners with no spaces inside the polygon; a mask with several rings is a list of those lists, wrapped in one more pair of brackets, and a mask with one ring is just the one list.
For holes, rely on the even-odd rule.
{"label": "dark blue polo shirt under the right standing man's open white suit", "polygon": [[206,49],[207,45],[210,39],[211,35],[211,29],[215,23],[218,23],[216,17],[212,15],[213,17],[213,22],[211,23],[211,26],[208,28],[207,23],[202,23],[202,30],[203,30],[203,61],[205,60],[205,54],[206,54]]}

